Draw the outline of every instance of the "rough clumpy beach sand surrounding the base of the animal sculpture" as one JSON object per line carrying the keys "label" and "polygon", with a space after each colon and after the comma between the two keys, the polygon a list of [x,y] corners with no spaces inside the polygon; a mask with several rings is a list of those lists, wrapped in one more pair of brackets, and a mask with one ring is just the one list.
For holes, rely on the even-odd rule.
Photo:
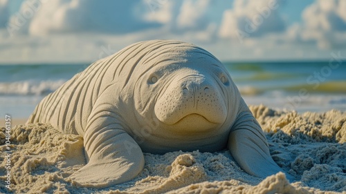
{"label": "rough clumpy beach sand surrounding the base of the animal sculpture", "polygon": [[[48,124],[11,130],[10,191],[14,193],[346,193],[346,113],[284,112],[251,106],[266,132],[273,159],[295,182],[277,173],[248,175],[228,151],[145,153],[145,168],[129,182],[82,188],[69,175],[85,165],[83,139]],[[6,188],[6,129],[0,130],[0,193]]]}

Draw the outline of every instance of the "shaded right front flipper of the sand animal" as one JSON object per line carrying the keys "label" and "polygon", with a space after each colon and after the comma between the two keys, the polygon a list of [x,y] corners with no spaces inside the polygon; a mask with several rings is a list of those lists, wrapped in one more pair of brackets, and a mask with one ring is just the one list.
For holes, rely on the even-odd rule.
{"label": "shaded right front flipper of the sand animal", "polygon": [[[238,115],[237,122],[228,137],[228,149],[246,173],[267,177],[282,171],[269,153],[260,124],[248,111]],[[291,175],[286,174],[286,176],[292,180]]]}

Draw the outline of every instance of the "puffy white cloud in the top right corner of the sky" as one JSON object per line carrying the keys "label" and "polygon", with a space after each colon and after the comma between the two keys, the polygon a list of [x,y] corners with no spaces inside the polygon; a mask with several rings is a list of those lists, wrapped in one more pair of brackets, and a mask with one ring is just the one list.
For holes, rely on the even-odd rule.
{"label": "puffy white cloud in the top right corner of the sky", "polygon": [[292,26],[296,41],[313,42],[318,48],[346,46],[346,1],[315,1],[302,12],[302,23]]}

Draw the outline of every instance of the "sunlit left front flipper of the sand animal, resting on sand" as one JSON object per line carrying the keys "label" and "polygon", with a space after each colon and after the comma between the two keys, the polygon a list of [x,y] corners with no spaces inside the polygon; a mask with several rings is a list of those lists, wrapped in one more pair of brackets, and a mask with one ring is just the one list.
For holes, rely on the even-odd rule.
{"label": "sunlit left front flipper of the sand animal, resting on sand", "polygon": [[102,128],[93,132],[84,135],[89,162],[71,175],[73,184],[106,187],[132,180],[143,170],[143,153],[124,130]]}

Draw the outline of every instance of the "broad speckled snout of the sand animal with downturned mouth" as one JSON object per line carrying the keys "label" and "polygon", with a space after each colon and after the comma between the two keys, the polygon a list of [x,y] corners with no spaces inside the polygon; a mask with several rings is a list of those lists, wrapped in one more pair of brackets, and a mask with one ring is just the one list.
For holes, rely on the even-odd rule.
{"label": "broad speckled snout of the sand animal with downturned mouth", "polygon": [[217,81],[211,78],[190,75],[176,79],[156,102],[156,117],[168,125],[189,123],[195,130],[203,122],[223,124],[227,108],[221,93]]}

